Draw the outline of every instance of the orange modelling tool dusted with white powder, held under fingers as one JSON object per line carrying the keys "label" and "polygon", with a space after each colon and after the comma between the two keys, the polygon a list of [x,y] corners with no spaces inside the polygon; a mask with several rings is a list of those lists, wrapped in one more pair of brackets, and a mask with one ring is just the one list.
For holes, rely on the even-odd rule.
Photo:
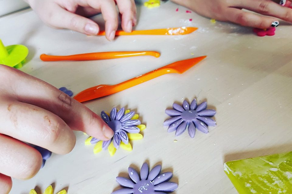
{"label": "orange modelling tool dusted with white powder, held under fingers", "polygon": [[[116,31],[116,36],[121,35],[185,35],[197,30],[195,27],[165,28],[156,30],[133,30],[132,32]],[[97,35],[106,35],[105,31],[100,31]]]}

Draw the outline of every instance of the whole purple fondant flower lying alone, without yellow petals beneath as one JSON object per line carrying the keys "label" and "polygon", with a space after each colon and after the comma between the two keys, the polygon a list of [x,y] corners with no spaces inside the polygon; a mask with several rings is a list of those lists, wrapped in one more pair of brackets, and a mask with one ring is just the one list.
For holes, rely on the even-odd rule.
{"label": "whole purple fondant flower lying alone, without yellow petals beneath", "polygon": [[188,129],[189,136],[195,136],[195,129],[208,133],[207,126],[215,126],[216,122],[210,117],[216,114],[215,110],[207,109],[207,102],[197,105],[196,99],[189,105],[184,100],[182,106],[173,103],[173,109],[165,110],[165,113],[172,118],[167,119],[163,125],[169,126],[168,132],[176,131],[176,136],[181,135]]}

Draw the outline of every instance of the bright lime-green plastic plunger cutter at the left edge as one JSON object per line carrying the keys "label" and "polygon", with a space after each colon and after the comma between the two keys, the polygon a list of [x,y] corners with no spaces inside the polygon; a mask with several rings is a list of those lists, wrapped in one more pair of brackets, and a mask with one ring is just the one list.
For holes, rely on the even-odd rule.
{"label": "bright lime-green plastic plunger cutter at the left edge", "polygon": [[28,48],[24,45],[4,46],[0,39],[0,64],[21,68],[26,62]]}

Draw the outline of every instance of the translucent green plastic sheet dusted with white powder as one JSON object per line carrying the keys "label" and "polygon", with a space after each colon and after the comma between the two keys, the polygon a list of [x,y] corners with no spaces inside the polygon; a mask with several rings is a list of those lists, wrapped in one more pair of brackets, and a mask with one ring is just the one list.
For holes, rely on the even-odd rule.
{"label": "translucent green plastic sheet dusted with white powder", "polygon": [[292,152],[224,163],[239,194],[292,194]]}

